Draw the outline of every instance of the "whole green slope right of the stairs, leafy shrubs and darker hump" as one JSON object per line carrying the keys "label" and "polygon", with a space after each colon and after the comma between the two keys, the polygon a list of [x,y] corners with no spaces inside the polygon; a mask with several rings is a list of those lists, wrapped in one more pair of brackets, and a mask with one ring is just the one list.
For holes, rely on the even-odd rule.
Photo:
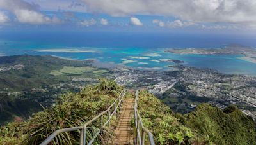
{"label": "whole green slope right of the stairs, leafy shrubs and darker hump", "polygon": [[141,117],[157,144],[256,144],[255,122],[235,106],[222,111],[201,104],[181,115],[146,91],[139,98]]}

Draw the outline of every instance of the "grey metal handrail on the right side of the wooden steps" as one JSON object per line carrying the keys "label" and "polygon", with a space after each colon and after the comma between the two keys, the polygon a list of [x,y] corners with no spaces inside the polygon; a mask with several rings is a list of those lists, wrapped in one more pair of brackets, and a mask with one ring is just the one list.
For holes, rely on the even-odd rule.
{"label": "grey metal handrail on the right side of the wooden steps", "polygon": [[[150,145],[155,145],[153,135],[147,128],[144,127],[143,122],[140,117],[140,113],[138,112],[138,94],[139,90],[136,90],[135,94],[135,103],[134,103],[134,120],[135,120],[135,127],[136,127],[136,141],[135,144],[144,145],[145,144],[145,136],[148,135],[148,141]],[[140,134],[140,128],[142,130],[142,137]]]}

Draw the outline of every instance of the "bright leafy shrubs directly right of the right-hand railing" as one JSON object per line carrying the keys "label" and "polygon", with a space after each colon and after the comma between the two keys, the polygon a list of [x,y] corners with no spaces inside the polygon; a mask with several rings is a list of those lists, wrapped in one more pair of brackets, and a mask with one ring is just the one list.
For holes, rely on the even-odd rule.
{"label": "bright leafy shrubs directly right of the right-hand railing", "polygon": [[138,110],[144,126],[155,137],[156,144],[191,144],[194,134],[175,117],[170,108],[146,90],[139,93]]}

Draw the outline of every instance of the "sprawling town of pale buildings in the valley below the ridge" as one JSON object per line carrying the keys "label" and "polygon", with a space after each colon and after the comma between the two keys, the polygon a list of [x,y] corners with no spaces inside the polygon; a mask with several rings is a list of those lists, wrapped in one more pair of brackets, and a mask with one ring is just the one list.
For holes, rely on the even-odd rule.
{"label": "sprawling town of pale buildings in the valley below the ridge", "polygon": [[[12,68],[20,68],[16,66]],[[221,74],[213,69],[198,69],[182,65],[172,66],[174,71],[143,71],[129,67],[109,69],[104,78],[114,79],[127,88],[144,88],[163,100],[174,111],[188,113],[207,102],[221,109],[236,104],[245,114],[256,119],[256,78],[244,75]],[[6,68],[5,68],[6,69]],[[72,76],[70,83],[44,85],[22,92],[0,90],[43,106],[58,102],[67,92],[78,92],[87,84],[99,82],[96,78]]]}

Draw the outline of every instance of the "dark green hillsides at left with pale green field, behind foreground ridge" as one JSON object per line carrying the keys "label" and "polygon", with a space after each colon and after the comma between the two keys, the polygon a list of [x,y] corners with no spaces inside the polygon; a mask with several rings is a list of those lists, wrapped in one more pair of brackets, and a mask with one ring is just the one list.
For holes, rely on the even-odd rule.
{"label": "dark green hillsides at left with pale green field, behind foreground ridge", "polygon": [[[42,111],[44,106],[56,101],[52,95],[59,95],[84,86],[83,81],[74,82],[72,78],[101,78],[108,74],[107,69],[99,69],[90,61],[65,60],[52,56],[15,55],[0,57],[0,125],[18,118],[24,120],[32,113]],[[21,69],[3,68],[22,65]],[[66,90],[60,85],[66,86]],[[56,86],[58,85],[60,89]],[[74,85],[75,84],[75,85]],[[42,87],[43,86],[43,87]],[[40,91],[34,91],[38,88]],[[69,90],[68,90],[69,89]],[[20,95],[15,95],[19,93]],[[14,95],[13,95],[14,94]],[[49,102],[52,100],[52,102]]]}

